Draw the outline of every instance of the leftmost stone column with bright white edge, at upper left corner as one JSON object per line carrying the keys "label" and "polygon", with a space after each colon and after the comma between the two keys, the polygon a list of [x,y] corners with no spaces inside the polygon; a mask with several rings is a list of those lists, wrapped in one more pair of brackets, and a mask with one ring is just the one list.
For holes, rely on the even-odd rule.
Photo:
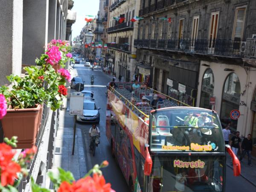
{"label": "leftmost stone column with bright white edge, at upper left corner", "polygon": [[20,75],[22,58],[22,0],[0,0],[0,85],[6,76]]}

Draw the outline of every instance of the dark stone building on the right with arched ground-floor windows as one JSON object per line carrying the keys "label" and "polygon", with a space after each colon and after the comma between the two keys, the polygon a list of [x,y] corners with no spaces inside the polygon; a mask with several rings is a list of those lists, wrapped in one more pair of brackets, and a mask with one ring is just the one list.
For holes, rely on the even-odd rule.
{"label": "dark stone building on the right with arched ground-floor windows", "polygon": [[[230,123],[242,137],[253,135],[254,153],[255,7],[255,0],[141,0],[144,19],[134,41],[140,76],[151,72],[157,90],[214,108],[223,127]],[[233,110],[239,110],[238,119]]]}

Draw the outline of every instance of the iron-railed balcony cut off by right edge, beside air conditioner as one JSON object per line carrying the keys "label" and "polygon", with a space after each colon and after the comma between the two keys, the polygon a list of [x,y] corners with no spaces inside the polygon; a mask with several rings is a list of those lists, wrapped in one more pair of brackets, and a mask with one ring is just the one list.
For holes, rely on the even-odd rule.
{"label": "iron-railed balcony cut off by right edge, beside air conditioner", "polygon": [[243,61],[256,66],[256,38],[247,38],[242,48],[244,48]]}

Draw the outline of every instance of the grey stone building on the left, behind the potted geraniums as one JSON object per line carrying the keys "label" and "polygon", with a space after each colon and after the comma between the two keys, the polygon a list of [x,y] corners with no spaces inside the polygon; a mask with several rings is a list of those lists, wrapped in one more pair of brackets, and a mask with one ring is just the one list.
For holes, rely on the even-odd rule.
{"label": "grey stone building on the left, behind the potted geraniums", "polygon": [[[52,39],[71,39],[71,25],[76,20],[76,12],[71,10],[73,3],[72,0],[0,0],[0,86],[8,83],[6,76],[21,76],[22,67],[35,65],[35,58],[45,52],[44,47]],[[52,167],[55,153],[57,119],[58,111],[53,112],[44,104],[35,144],[38,150],[27,164],[29,175],[20,181],[19,192],[31,190],[30,177],[45,186],[46,172]],[[0,121],[0,142],[3,137]]]}

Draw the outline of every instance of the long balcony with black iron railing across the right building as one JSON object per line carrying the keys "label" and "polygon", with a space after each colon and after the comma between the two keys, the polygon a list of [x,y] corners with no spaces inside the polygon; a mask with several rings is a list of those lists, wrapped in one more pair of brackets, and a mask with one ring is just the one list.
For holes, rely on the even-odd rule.
{"label": "long balcony with black iron railing across the right building", "polygon": [[[134,47],[242,58],[244,56],[244,52],[240,48],[243,43],[244,42],[242,41],[234,41],[230,39],[140,39],[134,40]],[[247,56],[250,58],[256,58],[256,40],[248,43],[247,47]]]}

